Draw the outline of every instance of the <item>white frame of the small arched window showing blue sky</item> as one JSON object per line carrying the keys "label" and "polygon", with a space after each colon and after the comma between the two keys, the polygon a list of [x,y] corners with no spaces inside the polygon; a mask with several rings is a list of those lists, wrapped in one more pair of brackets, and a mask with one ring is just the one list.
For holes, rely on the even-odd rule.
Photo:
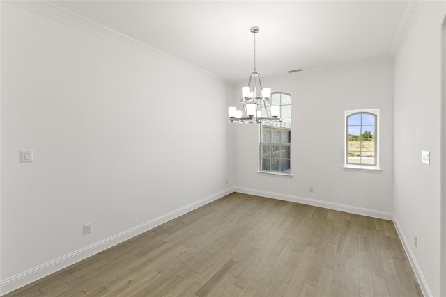
{"label": "white frame of the small arched window showing blue sky", "polygon": [[[374,164],[354,164],[348,163],[348,118],[357,114],[369,114],[375,117],[375,163]],[[362,125],[361,125],[362,127]],[[381,170],[380,169],[380,119],[379,109],[355,109],[346,110],[344,113],[344,168]]]}

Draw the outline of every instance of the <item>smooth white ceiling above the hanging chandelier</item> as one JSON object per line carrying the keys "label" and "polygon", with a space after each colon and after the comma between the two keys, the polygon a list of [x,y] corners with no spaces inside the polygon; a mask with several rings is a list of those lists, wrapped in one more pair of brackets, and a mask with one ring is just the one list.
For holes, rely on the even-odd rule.
{"label": "smooth white ceiling above the hanging chandelier", "polygon": [[229,81],[390,55],[408,1],[52,1]]}

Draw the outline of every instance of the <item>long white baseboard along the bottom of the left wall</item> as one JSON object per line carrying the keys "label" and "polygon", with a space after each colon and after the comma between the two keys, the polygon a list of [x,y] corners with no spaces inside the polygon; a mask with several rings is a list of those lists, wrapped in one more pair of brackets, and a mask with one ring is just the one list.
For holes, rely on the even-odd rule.
{"label": "long white baseboard along the bottom of the left wall", "polygon": [[102,241],[93,243],[90,246],[86,246],[85,248],[81,248],[79,250],[75,250],[74,252],[70,252],[68,255],[64,255],[50,262],[39,265],[35,268],[31,268],[28,271],[24,271],[22,273],[14,275],[11,278],[2,280],[0,282],[0,296],[7,294],[10,291],[14,291],[15,289],[19,289],[20,287],[23,287],[26,284],[39,280],[40,278],[44,278],[45,276],[50,275],[51,273],[54,273],[72,264],[75,264],[76,262],[79,262],[82,259],[86,259],[92,255],[95,255],[98,252],[101,252],[102,250],[106,250],[107,248],[116,246],[116,244],[118,243],[121,243],[143,232],[151,230],[154,227],[157,227],[158,225],[168,222],[169,220],[178,218],[178,216],[183,216],[183,214],[187,214],[188,212],[194,209],[202,207],[203,205],[213,202],[214,200],[217,200],[219,198],[222,198],[224,195],[228,195],[229,193],[232,192],[233,188],[227,188],[224,191],[220,191],[219,193],[210,195],[197,202],[193,202],[184,207],[180,207],[179,209],[171,211],[168,214],[164,214],[162,216],[154,218],[153,220],[149,220],[146,223],[142,223],[141,225],[132,227],[129,230],[125,230],[124,232],[118,233],[114,236],[110,236],[107,239],[103,239]]}

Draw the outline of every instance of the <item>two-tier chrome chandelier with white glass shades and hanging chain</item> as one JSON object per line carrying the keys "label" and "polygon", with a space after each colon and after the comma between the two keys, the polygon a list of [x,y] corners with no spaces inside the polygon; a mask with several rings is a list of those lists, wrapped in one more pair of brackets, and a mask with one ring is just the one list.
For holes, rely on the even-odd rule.
{"label": "two-tier chrome chandelier with white glass shades and hanging chain", "polygon": [[249,76],[248,86],[242,88],[242,109],[229,107],[229,122],[261,123],[282,122],[280,107],[271,104],[271,88],[262,88],[260,75],[256,70],[256,33],[259,27],[252,27],[254,33],[254,70]]}

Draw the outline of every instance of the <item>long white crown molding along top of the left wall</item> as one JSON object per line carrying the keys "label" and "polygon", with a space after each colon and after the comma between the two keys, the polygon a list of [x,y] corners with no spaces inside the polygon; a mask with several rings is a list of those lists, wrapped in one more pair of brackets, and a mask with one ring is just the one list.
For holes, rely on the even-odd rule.
{"label": "long white crown molding along top of the left wall", "polygon": [[136,51],[137,53],[148,58],[152,58],[156,61],[174,65],[176,67],[183,67],[185,70],[192,71],[195,75],[203,79],[208,79],[210,81],[215,81],[218,83],[224,83],[224,85],[226,85],[227,87],[232,87],[231,81],[223,79],[222,77],[217,77],[217,75],[203,70],[200,67],[166,54],[164,53],[164,51],[155,49],[154,47],[135,40],[128,35],[110,29],[109,27],[99,24],[98,22],[94,22],[91,19],[83,17],[82,15],[78,15],[77,13],[73,13],[70,10],[61,8],[54,3],[49,3],[48,1],[11,0],[7,0],[4,2],[23,8],[24,10],[28,10],[31,13],[36,13],[43,17],[47,17],[48,19],[52,19],[61,24],[65,24],[66,26],[70,26],[73,29],[77,29],[79,31],[83,31],[84,33],[94,35],[103,40],[107,40],[108,42],[112,42],[115,45],[119,45],[132,51]]}

